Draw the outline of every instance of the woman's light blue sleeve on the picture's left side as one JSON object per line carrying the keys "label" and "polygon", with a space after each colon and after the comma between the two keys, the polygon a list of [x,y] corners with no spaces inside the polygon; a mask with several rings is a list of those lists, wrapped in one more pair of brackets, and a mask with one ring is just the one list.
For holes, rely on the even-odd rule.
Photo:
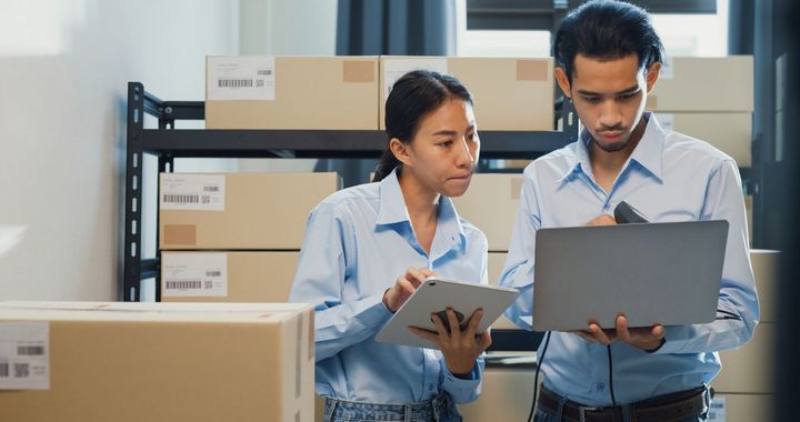
{"label": "woman's light blue sleeve on the picture's left side", "polygon": [[289,301],[314,304],[317,362],[374,335],[391,316],[382,293],[342,303],[353,245],[352,229],[336,205],[311,212]]}

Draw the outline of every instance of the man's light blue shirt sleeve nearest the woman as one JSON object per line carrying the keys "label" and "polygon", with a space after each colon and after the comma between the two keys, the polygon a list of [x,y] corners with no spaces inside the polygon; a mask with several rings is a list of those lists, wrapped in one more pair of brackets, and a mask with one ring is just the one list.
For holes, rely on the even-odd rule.
{"label": "man's light blue shirt sleeve nearest the woman", "polygon": [[526,172],[520,193],[517,221],[511,234],[511,244],[506,267],[498,284],[520,292],[514,303],[506,310],[506,318],[526,330],[532,330],[533,314],[533,258],[536,257],[536,233],[541,228],[539,203],[532,177]]}

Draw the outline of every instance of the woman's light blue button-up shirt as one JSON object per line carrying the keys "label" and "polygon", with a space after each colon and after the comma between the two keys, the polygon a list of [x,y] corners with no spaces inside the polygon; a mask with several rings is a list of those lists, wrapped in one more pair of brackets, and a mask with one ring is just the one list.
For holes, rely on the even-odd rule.
{"label": "woman's light blue button-up shirt", "polygon": [[371,403],[416,403],[442,391],[454,402],[480,393],[483,359],[471,380],[456,378],[441,352],[379,343],[392,313],[383,292],[409,267],[487,283],[487,239],[459,218],[447,197],[438,205],[430,254],[417,242],[397,172],[379,183],[341,190],[309,215],[289,300],[316,304],[317,393]]}

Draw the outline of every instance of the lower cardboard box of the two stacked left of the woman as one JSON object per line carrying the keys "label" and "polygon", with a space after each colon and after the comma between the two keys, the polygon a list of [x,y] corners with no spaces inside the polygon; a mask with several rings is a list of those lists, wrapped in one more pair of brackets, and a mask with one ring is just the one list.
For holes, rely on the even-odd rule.
{"label": "lower cardboard box of the two stacked left of the woman", "polygon": [[300,252],[161,253],[162,302],[287,302]]}

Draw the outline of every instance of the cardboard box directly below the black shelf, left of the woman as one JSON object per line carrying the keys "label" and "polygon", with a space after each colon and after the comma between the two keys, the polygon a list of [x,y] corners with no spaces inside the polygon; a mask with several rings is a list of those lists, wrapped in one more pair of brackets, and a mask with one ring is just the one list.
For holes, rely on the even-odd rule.
{"label": "cardboard box directly below the black shelf, left of the woman", "polygon": [[337,173],[162,173],[161,250],[299,250]]}

